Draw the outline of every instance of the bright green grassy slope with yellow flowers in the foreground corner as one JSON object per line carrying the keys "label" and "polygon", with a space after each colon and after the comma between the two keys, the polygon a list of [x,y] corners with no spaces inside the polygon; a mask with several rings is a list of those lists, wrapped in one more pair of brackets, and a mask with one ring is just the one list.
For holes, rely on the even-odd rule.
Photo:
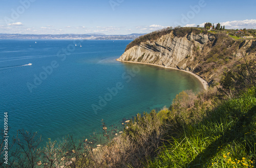
{"label": "bright green grassy slope with yellow flowers in the foreground corner", "polygon": [[256,162],[256,88],[225,101],[202,122],[171,136],[147,167],[253,167]]}

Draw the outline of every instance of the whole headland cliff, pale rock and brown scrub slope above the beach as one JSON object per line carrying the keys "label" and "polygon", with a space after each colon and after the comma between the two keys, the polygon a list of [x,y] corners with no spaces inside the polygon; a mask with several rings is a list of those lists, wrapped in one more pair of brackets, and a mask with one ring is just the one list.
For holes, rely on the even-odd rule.
{"label": "whole headland cliff, pale rock and brown scrub slope above the beach", "polygon": [[193,33],[183,36],[175,31],[146,40],[127,49],[118,61],[151,63],[190,71],[208,84],[216,84],[223,71],[255,57],[256,40],[234,40],[225,33]]}

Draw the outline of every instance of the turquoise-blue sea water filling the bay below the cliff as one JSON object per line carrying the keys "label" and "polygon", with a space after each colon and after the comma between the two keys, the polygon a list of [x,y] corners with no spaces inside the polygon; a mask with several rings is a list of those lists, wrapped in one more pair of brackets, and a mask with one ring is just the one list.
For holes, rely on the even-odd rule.
{"label": "turquoise-blue sea water filling the bay below the cliff", "polygon": [[25,129],[43,139],[88,138],[101,119],[121,130],[137,113],[169,107],[182,90],[203,89],[179,70],[115,61],[130,42],[0,40],[0,116],[9,114],[9,136]]}

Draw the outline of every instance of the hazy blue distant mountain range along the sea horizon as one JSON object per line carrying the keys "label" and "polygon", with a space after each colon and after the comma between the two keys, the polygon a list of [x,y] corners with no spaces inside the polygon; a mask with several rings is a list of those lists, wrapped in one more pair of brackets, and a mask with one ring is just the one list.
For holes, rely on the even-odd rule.
{"label": "hazy blue distant mountain range along the sea horizon", "polygon": [[127,39],[136,39],[139,36],[144,34],[129,34],[129,35],[105,35],[100,34],[44,34],[44,35],[35,35],[35,34],[1,34],[0,39],[95,39],[95,40],[127,40]]}

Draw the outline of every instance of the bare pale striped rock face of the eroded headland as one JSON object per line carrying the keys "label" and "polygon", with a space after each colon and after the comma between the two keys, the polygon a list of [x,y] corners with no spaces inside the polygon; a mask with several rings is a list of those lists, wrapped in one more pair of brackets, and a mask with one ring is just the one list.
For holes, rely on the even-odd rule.
{"label": "bare pale striped rock face of the eroded headland", "polygon": [[186,57],[193,55],[193,47],[200,48],[208,41],[215,40],[214,36],[206,34],[188,34],[179,38],[173,33],[159,38],[155,42],[144,42],[139,46],[133,46],[127,50],[119,59],[121,61],[134,61],[143,63],[153,63],[166,67],[177,67]]}

